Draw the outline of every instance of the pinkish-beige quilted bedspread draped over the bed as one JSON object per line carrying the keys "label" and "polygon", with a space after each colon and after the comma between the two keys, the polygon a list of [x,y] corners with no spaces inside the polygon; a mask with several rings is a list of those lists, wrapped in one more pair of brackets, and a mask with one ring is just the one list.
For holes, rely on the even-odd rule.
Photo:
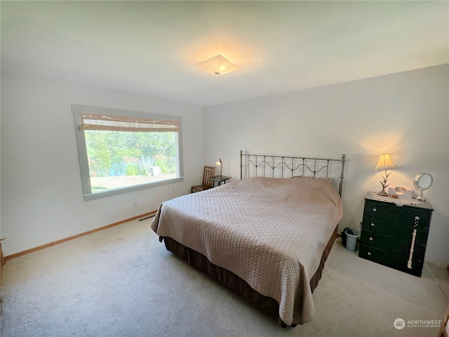
{"label": "pinkish-beige quilted bedspread draped over the bed", "polygon": [[326,180],[249,178],[163,202],[152,229],[276,299],[290,325],[314,315],[309,281],[341,218]]}

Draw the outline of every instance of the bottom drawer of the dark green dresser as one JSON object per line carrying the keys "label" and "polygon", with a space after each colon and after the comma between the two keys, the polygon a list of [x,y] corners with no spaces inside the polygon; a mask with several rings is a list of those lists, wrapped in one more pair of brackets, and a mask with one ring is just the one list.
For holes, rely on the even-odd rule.
{"label": "bottom drawer of the dark green dresser", "polygon": [[402,272],[407,272],[408,274],[412,274],[415,276],[421,276],[422,274],[422,266],[424,264],[422,261],[412,260],[410,266],[411,268],[409,268],[408,258],[384,251],[383,249],[366,246],[366,244],[360,245],[358,256],[360,256],[361,258],[365,258],[366,260],[380,263],[381,265],[386,265],[387,267],[401,270]]}

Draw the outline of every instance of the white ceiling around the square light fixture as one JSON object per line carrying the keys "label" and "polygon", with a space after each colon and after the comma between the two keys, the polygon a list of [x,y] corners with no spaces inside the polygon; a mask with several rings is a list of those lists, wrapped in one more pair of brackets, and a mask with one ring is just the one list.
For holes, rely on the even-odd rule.
{"label": "white ceiling around the square light fixture", "polygon": [[[211,106],[449,62],[448,1],[1,1],[1,69]],[[221,53],[241,69],[194,67]]]}

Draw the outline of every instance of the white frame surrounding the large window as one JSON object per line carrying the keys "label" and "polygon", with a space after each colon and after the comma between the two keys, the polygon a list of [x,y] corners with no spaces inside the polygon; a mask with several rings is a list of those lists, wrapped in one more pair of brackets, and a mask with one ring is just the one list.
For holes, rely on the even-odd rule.
{"label": "white frame surrounding the large window", "polygon": [[[184,168],[182,157],[182,117],[166,115],[166,114],[154,114],[149,112],[137,112],[130,110],[111,109],[107,107],[91,107],[88,105],[72,104],[72,113],[74,117],[76,145],[78,147],[79,157],[79,169],[81,172],[81,183],[83,186],[83,198],[84,201],[100,199],[104,197],[110,197],[112,195],[134,192],[138,190],[144,190],[151,187],[157,187],[162,185],[169,185],[173,183],[181,183],[184,181]],[[164,119],[179,121],[180,131],[177,133],[177,173],[175,178],[168,178],[164,180],[156,180],[149,183],[142,183],[139,185],[131,185],[127,187],[118,187],[111,190],[92,192],[91,190],[91,176],[89,174],[88,155],[86,147],[86,137],[84,131],[81,130],[81,114],[93,113],[93,114],[107,114],[125,117],[138,117],[146,119]]]}

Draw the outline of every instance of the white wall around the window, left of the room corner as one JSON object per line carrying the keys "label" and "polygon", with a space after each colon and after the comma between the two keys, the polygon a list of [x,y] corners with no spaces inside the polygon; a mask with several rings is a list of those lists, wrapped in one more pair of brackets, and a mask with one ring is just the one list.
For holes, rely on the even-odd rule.
{"label": "white wall around the window, left of the room corner", "polygon": [[[184,182],[83,201],[71,103],[182,116]],[[203,107],[2,71],[4,254],[154,211],[162,201],[188,193],[201,182],[203,129]]]}

